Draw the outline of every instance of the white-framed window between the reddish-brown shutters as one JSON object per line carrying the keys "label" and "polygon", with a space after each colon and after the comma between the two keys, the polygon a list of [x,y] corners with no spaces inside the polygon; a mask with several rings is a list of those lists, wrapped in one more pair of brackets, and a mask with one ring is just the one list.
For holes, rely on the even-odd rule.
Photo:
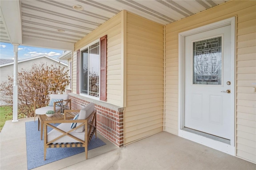
{"label": "white-framed window between the reddish-brown shutters", "polygon": [[80,93],[99,98],[100,44],[81,50]]}

